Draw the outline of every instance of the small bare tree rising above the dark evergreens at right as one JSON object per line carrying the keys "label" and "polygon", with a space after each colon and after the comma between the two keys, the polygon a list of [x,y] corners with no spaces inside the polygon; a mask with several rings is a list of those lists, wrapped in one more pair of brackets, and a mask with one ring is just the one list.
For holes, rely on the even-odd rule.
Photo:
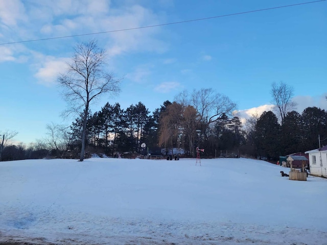
{"label": "small bare tree rising above the dark evergreens at right", "polygon": [[294,88],[284,82],[273,82],[271,85],[272,103],[275,105],[274,110],[279,115],[282,125],[285,123],[287,112],[296,108],[297,104],[292,101]]}

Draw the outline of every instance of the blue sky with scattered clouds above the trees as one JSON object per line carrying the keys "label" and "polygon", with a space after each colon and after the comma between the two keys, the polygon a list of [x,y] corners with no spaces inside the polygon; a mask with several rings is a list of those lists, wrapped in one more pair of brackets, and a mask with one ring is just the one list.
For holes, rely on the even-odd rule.
{"label": "blue sky with scattered clouds above the trees", "polygon": [[[11,0],[0,1],[0,43],[151,26],[220,16],[305,0]],[[126,109],[151,112],[186,89],[214,88],[238,104],[241,117],[271,108],[270,88],[294,87],[302,112],[327,109],[327,1],[147,29],[0,45],[0,132],[16,141],[45,136],[46,124],[70,124],[56,78],[76,42],[97,39],[108,71],[122,78]]]}

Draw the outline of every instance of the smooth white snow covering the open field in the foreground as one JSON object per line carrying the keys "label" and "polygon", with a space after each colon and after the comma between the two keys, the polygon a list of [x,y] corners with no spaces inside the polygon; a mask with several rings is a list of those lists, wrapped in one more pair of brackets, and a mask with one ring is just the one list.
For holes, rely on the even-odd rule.
{"label": "smooth white snow covering the open field in the foreground", "polygon": [[327,244],[327,180],[252,159],[0,162],[0,242]]}

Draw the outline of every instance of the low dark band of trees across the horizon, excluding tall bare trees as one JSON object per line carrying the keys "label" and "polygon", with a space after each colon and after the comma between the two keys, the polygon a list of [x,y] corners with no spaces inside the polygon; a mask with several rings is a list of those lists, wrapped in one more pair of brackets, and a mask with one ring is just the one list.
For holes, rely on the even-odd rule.
{"label": "low dark band of trees across the horizon, excluding tall bare trees", "polygon": [[[166,101],[151,115],[139,102],[127,109],[119,103],[106,104],[95,113],[89,113],[86,124],[87,152],[142,153],[146,143],[152,154],[161,149],[194,156],[195,148],[204,148],[207,157],[220,156],[220,152],[234,151],[241,155],[277,160],[280,155],[305,152],[319,146],[327,137],[327,112],[308,107],[300,114],[287,112],[282,124],[272,111],[252,116],[245,125],[239,117],[222,113],[209,125],[199,120],[193,106]],[[207,117],[209,118],[209,117]],[[77,118],[70,127],[48,125],[47,136],[29,145],[9,145],[3,150],[3,160],[40,157],[78,157],[82,144],[82,119]]]}

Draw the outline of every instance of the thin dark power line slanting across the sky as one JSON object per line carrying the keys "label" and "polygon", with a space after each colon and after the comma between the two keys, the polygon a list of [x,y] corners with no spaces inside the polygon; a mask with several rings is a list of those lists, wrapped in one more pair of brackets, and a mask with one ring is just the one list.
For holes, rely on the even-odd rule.
{"label": "thin dark power line slanting across the sky", "polygon": [[78,34],[78,35],[71,35],[71,36],[61,36],[61,37],[49,37],[49,38],[41,38],[41,39],[25,40],[25,41],[17,41],[17,42],[5,42],[5,43],[0,43],[0,45],[23,43],[23,42],[36,42],[36,41],[68,38],[68,37],[98,35],[98,34],[104,34],[104,33],[123,32],[123,31],[137,30],[137,29],[153,28],[153,27],[162,27],[162,26],[169,26],[171,24],[180,24],[180,23],[194,22],[194,21],[200,21],[200,20],[206,20],[206,19],[222,18],[222,17],[227,17],[227,16],[233,16],[233,15],[248,14],[248,13],[261,12],[261,11],[267,11],[267,10],[273,10],[273,9],[288,8],[288,7],[294,7],[294,6],[305,5],[305,4],[313,4],[313,3],[325,2],[325,1],[327,1],[327,0],[318,0],[318,1],[312,1],[312,2],[306,2],[306,3],[284,5],[284,6],[272,7],[272,8],[266,8],[266,9],[257,9],[257,10],[251,10],[251,11],[239,12],[239,13],[233,13],[233,14],[218,15],[218,16],[213,16],[213,17],[199,18],[199,19],[182,20],[182,21],[163,23],[163,24],[153,24],[152,26],[127,28],[127,29],[120,29],[120,30],[113,30],[113,31],[106,31],[106,32],[95,32],[95,33],[86,33],[86,34]]}

